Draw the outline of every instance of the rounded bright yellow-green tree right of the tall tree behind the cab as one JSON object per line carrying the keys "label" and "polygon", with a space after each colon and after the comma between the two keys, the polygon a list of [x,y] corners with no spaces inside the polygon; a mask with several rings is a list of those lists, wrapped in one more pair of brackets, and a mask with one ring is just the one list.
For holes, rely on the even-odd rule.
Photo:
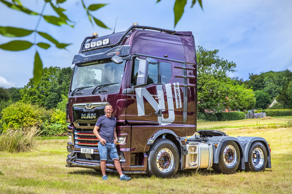
{"label": "rounded bright yellow-green tree right of the tall tree behind the cab", "polygon": [[256,97],[252,89],[247,89],[244,85],[231,85],[228,92],[228,106],[240,111],[254,108]]}

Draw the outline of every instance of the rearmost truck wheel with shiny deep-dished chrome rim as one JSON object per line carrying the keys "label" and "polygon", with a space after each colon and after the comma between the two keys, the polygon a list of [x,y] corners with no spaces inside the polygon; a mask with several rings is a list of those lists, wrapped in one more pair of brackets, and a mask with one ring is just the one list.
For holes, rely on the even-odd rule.
{"label": "rearmost truck wheel with shiny deep-dished chrome rim", "polygon": [[248,161],[245,163],[247,171],[258,172],[265,170],[267,166],[267,150],[263,143],[254,142],[248,151]]}

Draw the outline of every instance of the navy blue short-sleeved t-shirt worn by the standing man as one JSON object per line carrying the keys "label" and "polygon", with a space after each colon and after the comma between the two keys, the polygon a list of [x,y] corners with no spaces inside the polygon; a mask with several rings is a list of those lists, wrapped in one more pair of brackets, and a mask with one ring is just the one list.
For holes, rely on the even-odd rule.
{"label": "navy blue short-sleeved t-shirt worn by the standing man", "polygon": [[117,119],[115,117],[106,117],[105,115],[98,118],[96,126],[100,127],[99,135],[108,143],[114,142],[114,128],[116,127]]}

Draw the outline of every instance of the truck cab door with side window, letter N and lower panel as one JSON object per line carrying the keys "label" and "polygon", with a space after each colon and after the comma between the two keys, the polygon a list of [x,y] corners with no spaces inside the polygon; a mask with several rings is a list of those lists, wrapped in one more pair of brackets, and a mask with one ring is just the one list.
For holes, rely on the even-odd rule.
{"label": "truck cab door with side window, letter N and lower panel", "polygon": [[133,58],[131,88],[127,88],[130,92],[127,92],[126,121],[132,127],[131,150],[135,152],[144,152],[148,138],[162,129],[163,88],[159,83],[158,63],[149,60]]}

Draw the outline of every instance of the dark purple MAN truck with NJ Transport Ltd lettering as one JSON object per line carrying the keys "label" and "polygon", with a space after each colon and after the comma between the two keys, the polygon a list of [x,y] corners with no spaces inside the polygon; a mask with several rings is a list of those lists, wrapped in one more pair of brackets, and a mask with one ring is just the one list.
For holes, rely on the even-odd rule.
{"label": "dark purple MAN truck with NJ Transport Ltd lettering", "polygon": [[[112,105],[123,173],[171,177],[178,170],[271,168],[260,137],[197,129],[197,56],[192,32],[133,25],[86,37],[73,58],[67,103],[67,167],[100,170],[97,119]],[[195,135],[194,135],[195,134]],[[106,170],[116,172],[108,158]]]}

